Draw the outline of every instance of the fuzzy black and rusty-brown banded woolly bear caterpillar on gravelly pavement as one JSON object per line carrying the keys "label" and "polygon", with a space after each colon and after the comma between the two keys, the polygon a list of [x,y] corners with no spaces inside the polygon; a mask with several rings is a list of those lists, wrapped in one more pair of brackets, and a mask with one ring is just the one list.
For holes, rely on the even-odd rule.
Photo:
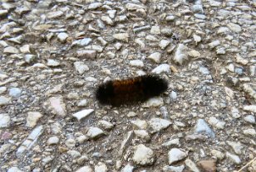
{"label": "fuzzy black and rusty-brown banded woolly bear caterpillar on gravelly pavement", "polygon": [[105,105],[120,106],[122,104],[145,102],[159,96],[168,88],[165,79],[158,75],[143,75],[130,79],[111,80],[96,88],[96,99]]}

